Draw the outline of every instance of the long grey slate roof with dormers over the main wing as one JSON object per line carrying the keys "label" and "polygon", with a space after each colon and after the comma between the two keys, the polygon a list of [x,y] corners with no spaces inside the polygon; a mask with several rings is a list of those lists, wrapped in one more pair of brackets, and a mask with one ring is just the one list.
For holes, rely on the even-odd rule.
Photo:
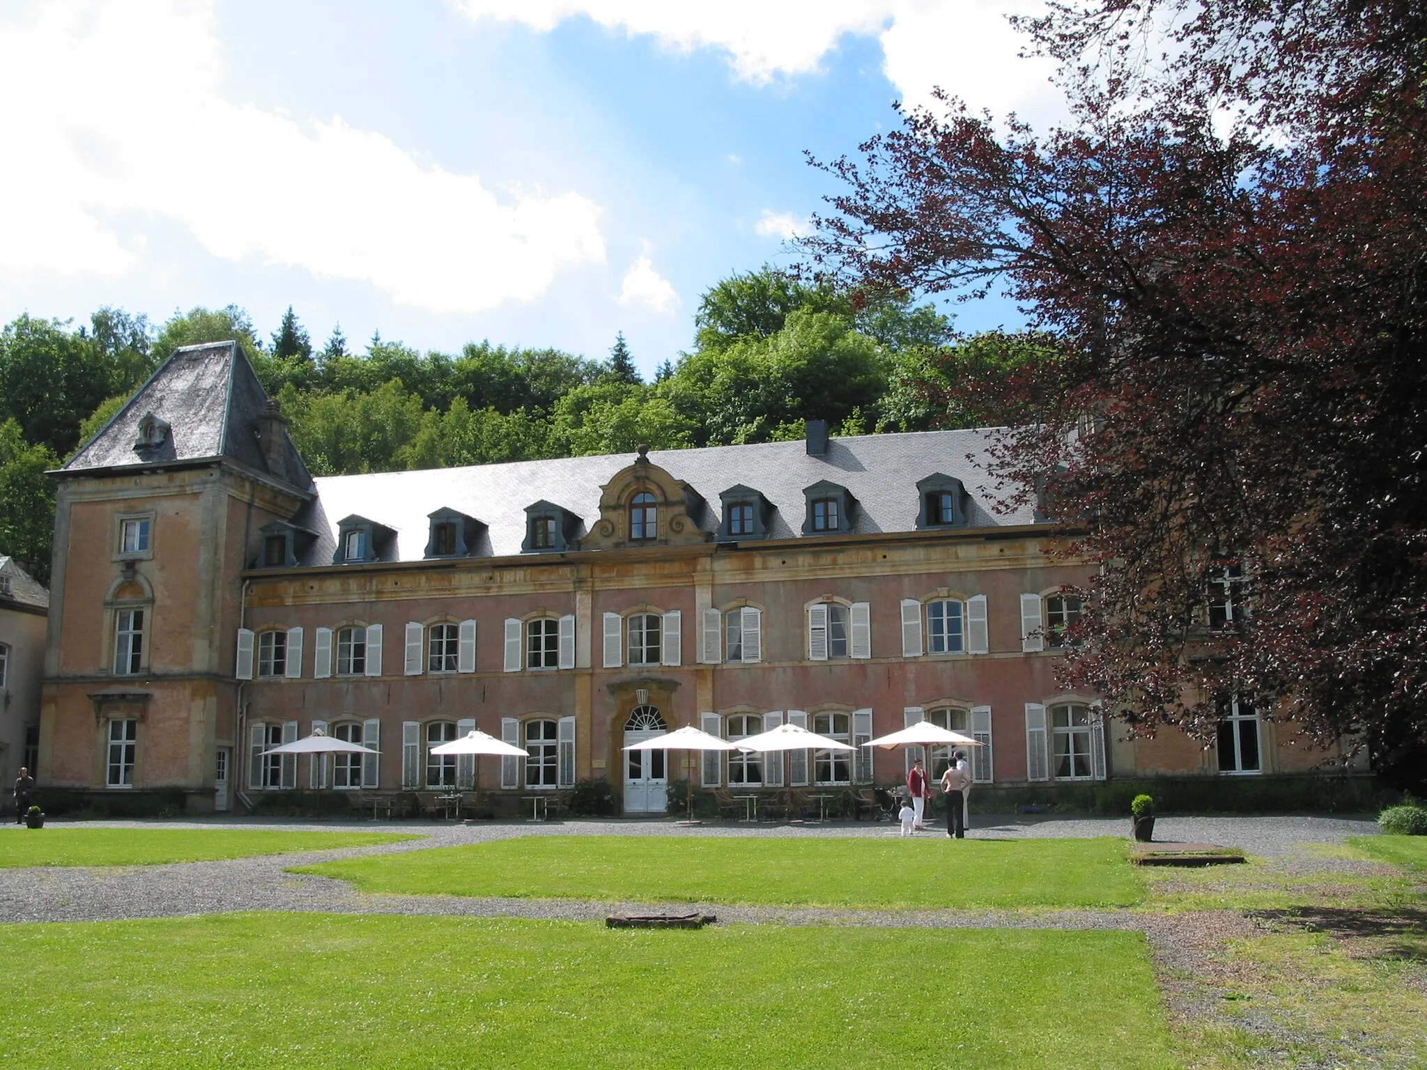
{"label": "long grey slate roof with dormers over the main wing", "polygon": [[[992,512],[987,448],[995,429],[920,431],[896,435],[833,438],[828,451],[809,455],[802,441],[704,449],[651,451],[649,461],[689,485],[704,508],[694,512],[711,535],[719,526],[719,494],[736,485],[761,492],[773,506],[771,539],[805,538],[803,488],[826,481],[845,486],[856,501],[852,535],[916,529],[916,484],[933,474],[960,479],[970,495],[968,528],[1029,525],[1030,506],[1009,515]],[[485,528],[472,556],[514,556],[525,539],[527,506],[548,501],[579,516],[577,538],[599,519],[599,488],[634,464],[634,454],[515,461],[469,468],[438,468],[317,478],[317,498],[294,524],[318,532],[301,564],[332,561],[338,521],[357,514],[397,532],[382,559],[421,561],[430,514],[457,509]],[[838,538],[832,535],[829,538]]]}

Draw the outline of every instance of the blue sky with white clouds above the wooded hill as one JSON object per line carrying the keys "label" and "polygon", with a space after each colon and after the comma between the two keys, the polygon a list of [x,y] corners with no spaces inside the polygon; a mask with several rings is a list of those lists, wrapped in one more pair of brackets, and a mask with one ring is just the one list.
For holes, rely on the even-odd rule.
{"label": "blue sky with white clouds above the wooded hill", "polygon": [[[935,84],[1059,114],[1005,0],[0,0],[0,317],[291,304],[652,372]],[[26,146],[21,153],[17,146]],[[21,167],[14,167],[23,161]],[[1019,322],[990,300],[963,330]]]}

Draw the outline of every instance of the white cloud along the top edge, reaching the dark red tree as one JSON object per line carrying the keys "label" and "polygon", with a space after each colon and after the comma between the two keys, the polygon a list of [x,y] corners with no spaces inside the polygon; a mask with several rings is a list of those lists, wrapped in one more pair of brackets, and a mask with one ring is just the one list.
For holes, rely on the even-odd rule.
{"label": "white cloud along the top edge, reaching the dark red tree", "polygon": [[973,108],[1059,113],[1050,66],[1017,60],[1023,41],[1006,16],[1037,14],[1043,0],[459,0],[471,19],[519,21],[549,31],[585,16],[669,49],[728,53],[751,83],[819,70],[843,34],[878,37],[883,73],[909,104],[940,86]]}

